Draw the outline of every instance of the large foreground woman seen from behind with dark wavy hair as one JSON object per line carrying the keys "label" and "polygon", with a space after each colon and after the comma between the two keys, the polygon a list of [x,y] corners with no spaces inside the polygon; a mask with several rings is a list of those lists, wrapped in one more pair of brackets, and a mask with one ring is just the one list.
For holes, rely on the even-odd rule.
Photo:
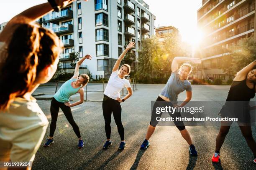
{"label": "large foreground woman seen from behind with dark wavy hair", "polygon": [[63,47],[54,32],[33,24],[52,10],[49,2],[31,7],[0,33],[0,162],[24,163],[20,169],[31,169],[49,124],[31,94],[54,75]]}

